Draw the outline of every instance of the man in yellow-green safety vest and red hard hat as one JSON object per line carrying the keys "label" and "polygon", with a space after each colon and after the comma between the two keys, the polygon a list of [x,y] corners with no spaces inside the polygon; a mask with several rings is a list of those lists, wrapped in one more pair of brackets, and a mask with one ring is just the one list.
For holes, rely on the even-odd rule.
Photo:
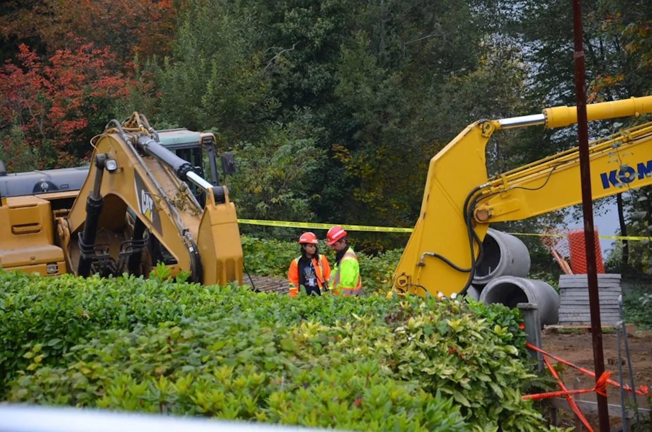
{"label": "man in yellow-green safety vest and red hard hat", "polygon": [[346,242],[347,233],[341,226],[333,226],[326,234],[326,244],[335,251],[335,265],[331,273],[331,294],[359,296],[363,290],[360,265],[353,248]]}

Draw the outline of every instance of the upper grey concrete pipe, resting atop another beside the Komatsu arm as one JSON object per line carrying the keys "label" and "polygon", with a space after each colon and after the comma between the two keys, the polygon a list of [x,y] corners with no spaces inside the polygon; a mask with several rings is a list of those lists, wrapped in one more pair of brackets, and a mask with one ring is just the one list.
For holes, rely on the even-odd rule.
{"label": "upper grey concrete pipe, resting atop another beside the Komatsu arm", "polygon": [[527,246],[511,234],[489,228],[482,247],[484,256],[473,275],[473,285],[486,285],[501,276],[526,277],[529,273]]}

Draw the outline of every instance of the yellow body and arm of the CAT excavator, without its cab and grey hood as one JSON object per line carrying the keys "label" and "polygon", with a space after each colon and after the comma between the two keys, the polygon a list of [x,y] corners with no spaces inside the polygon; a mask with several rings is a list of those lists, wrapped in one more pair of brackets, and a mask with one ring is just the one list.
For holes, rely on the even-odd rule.
{"label": "yellow body and arm of the CAT excavator, without its cab and grey hood", "polygon": [[[164,257],[170,276],[188,271],[191,281],[203,285],[242,283],[243,251],[228,190],[194,176],[205,193],[202,208],[170,164],[136,145],[141,138],[156,145],[156,132],[146,119],[147,126],[141,124],[141,117],[145,118],[134,113],[123,127],[107,129],[91,140],[91,167],[78,191],[2,198],[1,268],[80,274],[84,256],[80,234],[85,235],[85,225],[93,221],[92,253],[87,248],[84,258],[91,273],[127,271],[147,277]],[[166,149],[158,151],[185,162]],[[98,164],[98,158],[112,162]],[[88,214],[89,196],[94,193],[102,202],[95,220]],[[134,254],[138,245],[141,250]]]}

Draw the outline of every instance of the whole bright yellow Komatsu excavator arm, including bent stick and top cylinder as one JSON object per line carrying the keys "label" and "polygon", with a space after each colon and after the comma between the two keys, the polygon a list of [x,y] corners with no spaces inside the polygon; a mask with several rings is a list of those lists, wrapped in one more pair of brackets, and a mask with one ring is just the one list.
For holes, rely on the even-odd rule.
{"label": "whole bright yellow Komatsu excavator arm, including bent stick and top cylinder", "polygon": [[[588,121],[652,112],[652,96],[587,105]],[[576,123],[574,106],[468,125],[430,160],[419,219],[394,272],[393,290],[425,296],[466,293],[490,224],[582,202],[578,147],[488,178],[485,147],[501,129]],[[593,199],[652,184],[652,122],[591,142]]]}

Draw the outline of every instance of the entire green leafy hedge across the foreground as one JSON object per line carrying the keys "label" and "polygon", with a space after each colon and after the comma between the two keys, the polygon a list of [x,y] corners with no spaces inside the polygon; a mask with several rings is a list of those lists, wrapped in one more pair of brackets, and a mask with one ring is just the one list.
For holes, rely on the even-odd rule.
{"label": "entire green leafy hedge across the foreground", "polygon": [[5,399],[345,429],[541,430],[518,312],[0,271]]}

